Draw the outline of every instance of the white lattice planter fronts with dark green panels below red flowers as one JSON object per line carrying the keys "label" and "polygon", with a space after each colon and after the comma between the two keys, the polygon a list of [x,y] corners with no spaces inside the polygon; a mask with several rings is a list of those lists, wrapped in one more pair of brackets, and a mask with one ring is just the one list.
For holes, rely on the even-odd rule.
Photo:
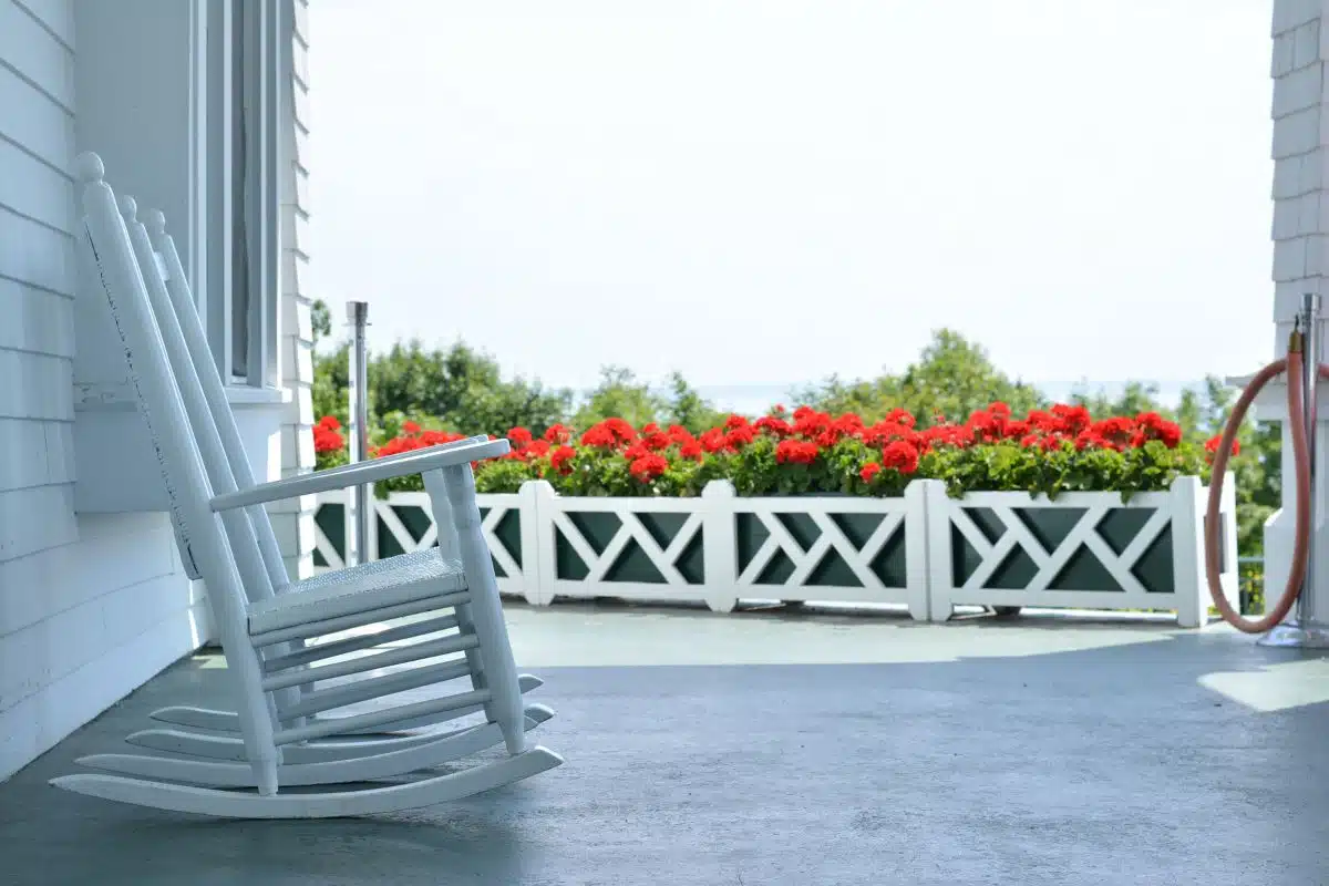
{"label": "white lattice planter fronts with dark green panels below red flowers", "polygon": [[[1164,610],[1203,624],[1203,519],[1195,477],[1168,491],[949,498],[914,481],[900,498],[740,498],[727,481],[696,498],[573,498],[544,481],[480,495],[500,590],[545,606],[610,596],[886,603],[942,622],[956,606]],[[1223,582],[1237,603],[1236,497],[1223,494]],[[369,559],[436,543],[424,493],[376,499]],[[316,570],[340,567],[344,493],[319,497]]]}

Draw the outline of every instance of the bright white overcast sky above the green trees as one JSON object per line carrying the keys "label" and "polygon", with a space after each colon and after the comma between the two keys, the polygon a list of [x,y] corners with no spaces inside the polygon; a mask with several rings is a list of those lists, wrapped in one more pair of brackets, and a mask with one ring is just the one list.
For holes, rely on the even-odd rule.
{"label": "bright white overcast sky above the green trees", "polygon": [[[1272,357],[1271,0],[319,0],[311,274],[589,388]],[[772,395],[773,396],[773,395]]]}

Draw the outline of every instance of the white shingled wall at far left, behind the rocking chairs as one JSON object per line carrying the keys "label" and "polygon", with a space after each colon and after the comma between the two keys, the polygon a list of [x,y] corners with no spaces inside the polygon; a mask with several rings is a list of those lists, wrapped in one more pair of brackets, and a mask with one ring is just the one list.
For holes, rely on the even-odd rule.
{"label": "white shingled wall at far left, behind the rocking chairs", "polygon": [[0,0],[0,778],[210,632],[165,514],[73,511],[74,17]]}

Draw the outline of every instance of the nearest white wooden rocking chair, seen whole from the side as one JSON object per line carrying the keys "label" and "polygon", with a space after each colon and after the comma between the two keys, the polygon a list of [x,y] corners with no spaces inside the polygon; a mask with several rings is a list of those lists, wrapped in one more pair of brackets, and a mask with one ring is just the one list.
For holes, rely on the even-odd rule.
{"label": "nearest white wooden rocking chair, seen whole from the side", "polygon": [[[170,295],[161,286],[162,278],[181,282],[182,276],[178,271],[170,274],[170,268],[162,274],[154,258],[142,260],[152,254],[146,231],[137,222],[133,231],[126,227],[96,155],[80,157],[78,174],[85,183],[88,240],[125,345],[140,409],[153,433],[181,549],[207,586],[227,677],[239,703],[235,720],[227,721],[238,725],[239,739],[179,733],[189,740],[186,744],[215,743],[225,752],[199,754],[213,760],[98,754],[80,762],[142,777],[73,774],[53,778],[52,784],[106,800],[206,816],[320,818],[435,805],[560,765],[558,754],[526,744],[526,729],[538,720],[522,709],[522,687],[474,497],[470,462],[506,453],[508,442],[468,440],[399,458],[270,484],[246,482],[239,487],[223,446],[229,422],[217,421],[215,410],[209,408],[207,388],[213,381],[209,376],[217,369],[210,360],[189,357],[182,327],[187,329],[190,323],[179,323]],[[163,232],[159,224],[155,227],[161,240]],[[185,313],[189,320],[189,312]],[[197,316],[193,319],[197,321]],[[202,364],[207,371],[197,372],[195,365]],[[209,383],[203,384],[201,376]],[[215,381],[221,384],[219,377]],[[251,480],[241,470],[243,480]],[[280,559],[264,503],[409,474],[424,476],[436,523],[440,530],[451,527],[440,531],[437,551],[339,570],[284,587],[284,570],[280,575],[276,571]],[[283,592],[275,594],[274,586],[283,587]],[[310,638],[407,616],[424,618],[389,628],[379,635],[377,643],[384,642],[384,634],[397,640],[453,628],[456,632],[354,658],[342,656],[376,643],[303,646]],[[462,658],[420,664],[456,654]],[[310,667],[327,658],[342,660]],[[403,665],[413,667],[364,676]],[[469,677],[469,691],[385,704],[335,719],[310,716],[461,677]],[[315,688],[318,680],[338,683]],[[439,721],[440,715],[472,711],[484,711],[488,721],[443,737],[346,740],[338,744],[347,747],[335,752],[316,751],[320,739],[376,728],[400,729]],[[385,748],[384,741],[407,744]],[[425,773],[397,781],[498,743],[506,747],[504,758],[451,774]],[[389,786],[279,792],[298,785],[388,778],[393,778]],[[254,786],[256,793],[235,790]]]}

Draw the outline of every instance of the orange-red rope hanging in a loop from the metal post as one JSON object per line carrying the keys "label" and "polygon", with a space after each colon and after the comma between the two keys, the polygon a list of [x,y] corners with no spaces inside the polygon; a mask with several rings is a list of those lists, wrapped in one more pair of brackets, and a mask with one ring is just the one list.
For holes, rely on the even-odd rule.
{"label": "orange-red rope hanging in a loop from the metal post", "polygon": [[[1306,576],[1306,555],[1310,550],[1310,457],[1308,452],[1306,417],[1302,383],[1302,333],[1293,331],[1288,344],[1288,356],[1275,360],[1264,369],[1260,369],[1247,385],[1232,408],[1227,428],[1223,429],[1223,438],[1213,456],[1213,473],[1209,480],[1209,506],[1204,519],[1204,573],[1209,583],[1209,595],[1213,606],[1217,607],[1223,620],[1244,631],[1245,634],[1264,634],[1269,628],[1282,622],[1292,610],[1301,592],[1301,583]],[[1232,608],[1223,584],[1219,579],[1221,565],[1219,563],[1220,535],[1223,527],[1219,522],[1219,506],[1223,499],[1223,476],[1228,468],[1228,457],[1232,453],[1232,442],[1237,437],[1241,421],[1245,418],[1251,401],[1255,400],[1260,389],[1275,376],[1286,372],[1288,376],[1288,422],[1292,430],[1292,461],[1296,466],[1296,541],[1293,542],[1292,571],[1288,574],[1288,584],[1278,598],[1277,606],[1268,611],[1261,619],[1247,619]],[[1329,365],[1318,364],[1317,379],[1329,379]],[[1312,405],[1313,409],[1313,405]]]}

